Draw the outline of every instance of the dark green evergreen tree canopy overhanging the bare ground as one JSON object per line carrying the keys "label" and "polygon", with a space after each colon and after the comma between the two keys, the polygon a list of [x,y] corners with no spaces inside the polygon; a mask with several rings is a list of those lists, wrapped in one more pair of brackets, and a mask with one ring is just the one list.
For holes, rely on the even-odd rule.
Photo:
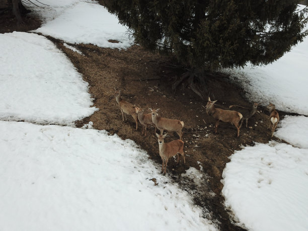
{"label": "dark green evergreen tree canopy overhanging the bare ground", "polygon": [[191,69],[271,63],[308,34],[292,0],[104,0],[137,43]]}

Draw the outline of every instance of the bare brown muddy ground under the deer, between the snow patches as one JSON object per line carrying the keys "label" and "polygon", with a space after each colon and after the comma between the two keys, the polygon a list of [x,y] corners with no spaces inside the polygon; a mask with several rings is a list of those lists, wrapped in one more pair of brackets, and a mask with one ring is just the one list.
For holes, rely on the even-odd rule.
{"label": "bare brown muddy ground under the deer, between the snow patches", "polygon": [[[0,32],[28,31],[40,25],[39,20],[25,18],[25,25],[17,25],[10,14],[0,15]],[[161,165],[157,137],[154,128],[148,129],[146,137],[141,136],[141,124],[135,131],[135,124],[130,116],[122,122],[121,112],[114,98],[115,89],[121,89],[122,98],[138,107],[160,108],[160,116],[184,121],[183,140],[185,142],[186,165],[180,159],[168,163],[168,173],[175,182],[194,198],[194,202],[203,208],[204,216],[208,214],[219,221],[221,230],[241,230],[234,224],[232,214],[224,208],[221,189],[222,172],[228,157],[242,145],[254,145],[254,142],[266,143],[270,140],[268,112],[264,108],[249,120],[251,128],[242,127],[240,137],[236,137],[236,128],[232,124],[220,122],[218,133],[213,134],[214,120],[205,113],[202,101],[189,86],[181,85],[172,91],[172,84],[185,71],[176,67],[168,57],[153,54],[142,46],[134,45],[127,50],[100,48],[95,45],[69,44],[82,51],[83,55],[63,46],[63,42],[47,37],[61,49],[83,74],[89,83],[89,92],[94,98],[94,106],[99,110],[82,121],[76,121],[77,127],[93,122],[95,129],[105,129],[110,134],[117,133],[123,139],[134,140],[148,152],[149,158]],[[110,38],[112,39],[112,38]],[[116,42],[116,41],[111,41]],[[221,73],[205,73],[211,99],[218,100],[217,107],[226,109],[229,105],[238,104],[249,107],[240,87],[231,83],[228,76]],[[243,111],[244,110],[244,111]],[[245,109],[239,110],[245,113]],[[283,118],[283,114],[282,118]],[[245,123],[244,123],[245,124]],[[174,132],[169,133],[165,141],[178,139]],[[205,174],[201,184],[181,176],[187,169],[194,167]],[[158,182],[164,184],[164,182]],[[153,182],[154,184],[154,182]]]}

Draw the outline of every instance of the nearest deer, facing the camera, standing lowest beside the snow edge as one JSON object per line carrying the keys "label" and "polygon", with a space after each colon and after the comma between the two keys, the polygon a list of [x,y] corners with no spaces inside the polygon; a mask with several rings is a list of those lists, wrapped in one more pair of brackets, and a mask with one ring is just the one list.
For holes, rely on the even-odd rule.
{"label": "nearest deer, facing the camera, standing lowest beside the snow edge", "polygon": [[164,138],[167,136],[167,133],[164,135],[163,134],[159,135],[158,133],[156,133],[156,136],[158,137],[160,156],[163,162],[161,173],[164,173],[164,176],[166,175],[168,160],[169,158],[174,157],[176,155],[178,156],[176,165],[179,164],[179,159],[180,159],[179,154],[183,156],[184,165],[185,165],[185,156],[184,156],[184,151],[183,151],[184,142],[180,139],[176,139],[169,143],[165,143]]}

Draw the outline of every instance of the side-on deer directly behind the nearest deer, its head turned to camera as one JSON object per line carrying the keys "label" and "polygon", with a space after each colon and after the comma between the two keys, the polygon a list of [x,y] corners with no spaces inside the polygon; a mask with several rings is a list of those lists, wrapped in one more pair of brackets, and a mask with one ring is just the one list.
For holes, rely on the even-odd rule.
{"label": "side-on deer directly behind the nearest deer, its head turned to camera", "polygon": [[159,108],[156,110],[149,108],[149,110],[152,113],[153,124],[155,124],[155,126],[161,131],[161,135],[163,134],[164,130],[175,131],[180,136],[180,140],[182,140],[182,128],[184,127],[183,121],[178,119],[167,119],[159,117],[157,114],[157,112],[160,110]]}

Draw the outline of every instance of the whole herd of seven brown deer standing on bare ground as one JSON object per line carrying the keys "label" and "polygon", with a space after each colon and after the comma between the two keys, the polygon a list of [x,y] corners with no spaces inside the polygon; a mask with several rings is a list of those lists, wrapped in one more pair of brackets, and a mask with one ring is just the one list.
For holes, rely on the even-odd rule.
{"label": "whole herd of seven brown deer standing on bare ground", "polygon": [[[115,93],[115,99],[118,103],[118,106],[121,110],[122,114],[122,120],[124,122],[124,116],[125,121],[127,120],[126,115],[131,115],[131,117],[136,122],[136,130],[138,129],[138,120],[142,125],[142,132],[141,135],[144,137],[146,136],[146,128],[149,125],[155,126],[155,133],[156,128],[160,130],[160,134],[156,133],[156,136],[158,137],[158,143],[159,143],[159,153],[162,158],[162,173],[166,175],[166,168],[169,158],[172,158],[174,156],[177,156],[177,164],[179,163],[179,155],[183,156],[184,159],[184,165],[185,165],[185,156],[184,156],[184,142],[182,141],[183,132],[182,129],[184,127],[184,122],[178,119],[168,119],[160,117],[158,114],[158,109],[151,109],[148,110],[150,113],[144,113],[144,110],[132,105],[131,103],[123,100],[121,98],[121,91],[116,91]],[[208,97],[208,102],[205,107],[205,111],[209,116],[212,116],[215,119],[215,133],[217,133],[217,127],[219,121],[222,122],[229,122],[232,123],[237,128],[237,137],[240,135],[240,128],[243,124],[243,121],[246,120],[246,127],[248,126],[248,120],[250,117],[252,117],[257,112],[258,103],[253,103],[251,108],[242,107],[239,105],[231,105],[229,108],[233,107],[240,107],[240,108],[246,108],[249,109],[249,113],[245,116],[243,116],[240,112],[237,111],[230,111],[230,110],[223,110],[220,108],[215,108],[215,101],[211,101]],[[275,128],[279,122],[279,114],[275,110],[275,105],[270,103],[266,108],[269,113],[269,129],[271,129],[271,137],[273,137],[273,133],[275,131]],[[240,123],[241,122],[241,123]],[[164,130],[167,131],[175,131],[180,139],[173,140],[171,142],[165,143],[164,138],[167,136],[164,133]]]}

